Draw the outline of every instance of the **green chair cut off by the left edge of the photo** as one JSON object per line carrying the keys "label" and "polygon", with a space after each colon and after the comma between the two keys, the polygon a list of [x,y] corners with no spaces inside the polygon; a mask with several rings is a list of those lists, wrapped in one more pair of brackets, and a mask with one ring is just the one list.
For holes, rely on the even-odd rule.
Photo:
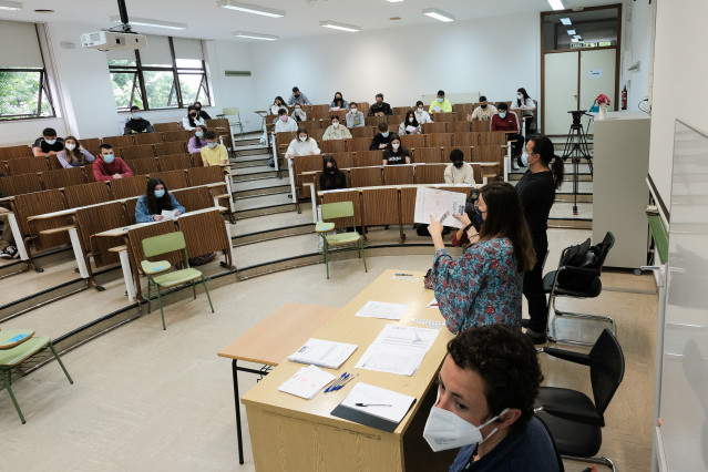
{"label": "green chair cut off by the left edge of the photo", "polygon": [[61,366],[61,369],[66,374],[69,383],[74,382],[66,371],[63,362],[59,358],[57,349],[54,349],[54,345],[52,345],[52,340],[48,337],[34,337],[32,336],[33,334],[34,331],[32,331],[31,329],[11,329],[7,331],[0,331],[0,346],[13,346],[9,349],[0,349],[0,377],[2,377],[4,388],[8,389],[8,393],[10,393],[12,404],[14,404],[14,410],[20,415],[20,421],[22,421],[22,424],[24,424],[27,420],[24,420],[24,415],[22,414],[22,410],[20,410],[18,400],[14,398],[14,393],[12,393],[11,387],[12,380],[10,370],[13,367],[24,362],[27,359],[31,358],[45,347],[49,347],[57,358],[57,361]]}

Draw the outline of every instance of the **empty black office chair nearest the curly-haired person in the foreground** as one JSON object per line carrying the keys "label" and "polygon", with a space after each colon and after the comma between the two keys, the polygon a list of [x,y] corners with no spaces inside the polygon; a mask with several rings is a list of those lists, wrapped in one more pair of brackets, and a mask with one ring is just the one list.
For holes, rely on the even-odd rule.
{"label": "empty black office chair nearest the curly-haired person in the foreground", "polygon": [[602,464],[617,471],[612,460],[597,455],[603,443],[605,410],[625,374],[625,357],[617,339],[604,329],[589,353],[546,347],[548,356],[589,366],[593,400],[585,393],[558,387],[541,387],[535,414],[553,435],[563,459]]}

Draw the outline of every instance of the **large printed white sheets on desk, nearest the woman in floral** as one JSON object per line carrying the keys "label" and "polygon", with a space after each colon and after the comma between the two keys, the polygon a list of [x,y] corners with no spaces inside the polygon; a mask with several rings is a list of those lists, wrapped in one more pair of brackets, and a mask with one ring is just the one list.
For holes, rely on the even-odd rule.
{"label": "large printed white sheets on desk, nearest the woman in floral", "polygon": [[437,329],[387,325],[357,362],[358,369],[412,376],[438,337]]}

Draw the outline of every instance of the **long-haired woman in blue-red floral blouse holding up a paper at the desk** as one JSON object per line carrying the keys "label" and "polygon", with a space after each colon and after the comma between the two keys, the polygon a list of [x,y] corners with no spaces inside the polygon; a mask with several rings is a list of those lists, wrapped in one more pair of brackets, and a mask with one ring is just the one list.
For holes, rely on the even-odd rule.
{"label": "long-haired woman in blue-red floral blouse holding up a paper at the desk", "polygon": [[458,334],[472,326],[521,327],[523,274],[534,265],[533,244],[519,194],[511,184],[482,187],[475,203],[480,232],[466,214],[454,215],[470,244],[454,260],[442,240],[442,225],[430,217],[435,245],[433,284],[448,329]]}

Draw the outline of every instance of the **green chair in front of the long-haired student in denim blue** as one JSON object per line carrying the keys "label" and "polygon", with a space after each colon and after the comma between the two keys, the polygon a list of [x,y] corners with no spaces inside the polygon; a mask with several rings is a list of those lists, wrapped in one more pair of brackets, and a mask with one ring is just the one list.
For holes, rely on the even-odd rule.
{"label": "green chair in front of the long-haired student in denim blue", "polygon": [[187,266],[185,269],[168,271],[171,265],[166,260],[156,263],[151,263],[150,260],[141,261],[141,268],[147,277],[147,312],[150,314],[152,311],[152,286],[154,285],[157,287],[162,329],[167,329],[167,326],[165,325],[165,311],[162,306],[161,288],[171,288],[192,283],[192,293],[194,294],[194,299],[196,299],[194,283],[201,280],[204,286],[204,291],[206,293],[206,298],[209,300],[209,308],[212,308],[212,312],[214,312],[214,305],[212,305],[212,297],[209,297],[209,289],[206,287],[204,275],[202,271],[189,267],[189,257],[187,256],[187,247],[184,242],[184,233],[167,233],[143,239],[143,253],[145,257],[160,256],[161,254],[172,253],[174,250],[184,250],[184,264]]}

